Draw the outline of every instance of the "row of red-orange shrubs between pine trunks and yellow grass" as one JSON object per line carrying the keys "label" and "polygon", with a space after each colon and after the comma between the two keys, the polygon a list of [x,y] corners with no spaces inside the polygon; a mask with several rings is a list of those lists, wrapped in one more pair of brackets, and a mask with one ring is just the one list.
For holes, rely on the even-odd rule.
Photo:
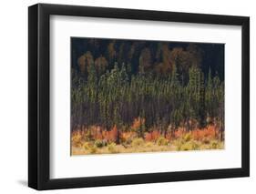
{"label": "row of red-orange shrubs between pine trunks and yellow grass", "polygon": [[[80,145],[86,141],[94,140],[103,140],[108,143],[114,143],[117,141],[119,135],[121,142],[129,144],[134,138],[138,138],[138,128],[140,128],[142,124],[145,124],[144,118],[135,118],[131,126],[132,130],[126,132],[119,131],[119,133],[116,125],[110,130],[106,130],[99,126],[91,126],[89,128],[85,126],[77,126],[77,128],[74,128],[71,132],[71,142],[72,145],[76,147],[80,147]],[[157,142],[162,134],[158,128],[151,128],[151,130],[151,132],[144,133],[144,139],[145,141]],[[173,133],[167,131],[165,138],[168,140],[173,140],[175,138],[186,139],[188,135],[189,139],[210,142],[210,140],[220,137],[220,130],[214,125],[207,126],[206,128],[195,128],[190,131],[187,131],[186,128],[178,128]]]}

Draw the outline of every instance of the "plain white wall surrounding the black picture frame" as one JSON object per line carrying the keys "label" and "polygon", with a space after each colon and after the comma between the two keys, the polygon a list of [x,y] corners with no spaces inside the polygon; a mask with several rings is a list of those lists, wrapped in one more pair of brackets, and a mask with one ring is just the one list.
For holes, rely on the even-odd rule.
{"label": "plain white wall surrounding the black picture frame", "polygon": [[[120,1],[120,0],[53,0],[41,3],[113,6],[166,11],[249,15],[251,16],[251,178],[216,179],[104,187],[66,189],[47,193],[250,193],[256,189],[256,12],[253,0],[176,0],[176,1]],[[0,8],[0,192],[36,193],[26,187],[27,179],[27,6],[34,0],[2,1]],[[254,77],[253,77],[254,76]]]}

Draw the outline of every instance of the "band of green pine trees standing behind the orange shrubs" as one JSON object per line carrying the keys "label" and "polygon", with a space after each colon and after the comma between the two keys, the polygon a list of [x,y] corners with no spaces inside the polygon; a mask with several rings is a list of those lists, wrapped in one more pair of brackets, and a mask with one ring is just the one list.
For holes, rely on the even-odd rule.
{"label": "band of green pine trees standing behind the orange shrubs", "polygon": [[[184,49],[177,50],[179,60],[171,61],[171,70],[162,68],[159,74],[155,67],[162,62],[163,54],[159,53],[159,58],[154,61],[157,51],[151,51],[149,47],[145,53],[152,58],[148,60],[149,57],[143,54],[139,61],[143,47],[134,47],[138,49],[132,56],[134,61],[123,60],[127,57],[125,53],[118,58],[118,49],[112,45],[109,52],[113,63],[109,63],[108,56],[100,54],[95,63],[87,63],[86,74],[81,72],[80,66],[77,70],[72,69],[72,128],[85,125],[109,130],[116,126],[120,133],[139,118],[141,125],[137,135],[143,138],[145,132],[153,128],[166,135],[168,130],[174,132],[179,127],[192,130],[214,123],[222,131],[220,138],[223,139],[224,84],[218,74],[212,77],[209,69],[205,76],[197,61],[185,66],[187,57],[192,54]],[[103,57],[108,66],[102,66]],[[120,63],[115,63],[117,60]]]}

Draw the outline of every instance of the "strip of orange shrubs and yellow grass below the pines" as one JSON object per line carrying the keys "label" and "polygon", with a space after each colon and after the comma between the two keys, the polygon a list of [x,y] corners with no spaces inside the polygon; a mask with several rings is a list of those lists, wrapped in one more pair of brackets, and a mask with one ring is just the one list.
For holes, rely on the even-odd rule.
{"label": "strip of orange shrubs and yellow grass below the pines", "polygon": [[[138,117],[126,131],[119,132],[117,125],[109,130],[99,126],[77,128],[71,134],[72,147],[88,150],[91,154],[97,153],[101,149],[103,153],[118,153],[133,149],[144,152],[145,150],[172,150],[172,148],[175,150],[222,148],[220,128],[216,125],[194,128],[189,131],[186,128],[177,128],[174,132],[167,131],[166,133],[152,128],[150,132],[145,132],[140,138],[138,128],[141,128],[144,122],[145,119]],[[117,144],[118,140],[119,144]],[[118,145],[121,146],[121,150],[118,150]]]}

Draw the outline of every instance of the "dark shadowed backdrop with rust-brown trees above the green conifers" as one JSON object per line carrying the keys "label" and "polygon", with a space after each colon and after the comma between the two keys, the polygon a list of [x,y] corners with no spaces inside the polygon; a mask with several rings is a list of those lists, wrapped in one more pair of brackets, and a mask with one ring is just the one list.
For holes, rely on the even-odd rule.
{"label": "dark shadowed backdrop with rust-brown trees above the green conifers", "polygon": [[[173,61],[175,55],[185,59],[189,53],[196,54],[200,57],[200,68],[204,75],[209,73],[214,77],[216,73],[220,80],[224,80],[224,44],[207,44],[207,43],[183,43],[183,42],[163,42],[163,41],[147,41],[147,40],[123,40],[123,39],[104,39],[104,38],[71,38],[72,50],[72,68],[79,71],[79,62],[77,59],[80,56],[90,53],[93,58],[107,60],[108,69],[113,68],[114,62],[130,63],[133,72],[138,70],[139,56],[142,51],[149,50],[150,64],[154,66],[165,63],[169,66],[168,59]],[[88,53],[87,53],[88,52]],[[196,52],[196,53],[195,53]],[[147,54],[146,54],[147,55]],[[88,56],[90,56],[88,54]],[[189,60],[189,57],[187,57]],[[169,61],[169,63],[171,63]],[[192,63],[192,61],[190,61]],[[180,72],[182,74],[182,72]]]}

